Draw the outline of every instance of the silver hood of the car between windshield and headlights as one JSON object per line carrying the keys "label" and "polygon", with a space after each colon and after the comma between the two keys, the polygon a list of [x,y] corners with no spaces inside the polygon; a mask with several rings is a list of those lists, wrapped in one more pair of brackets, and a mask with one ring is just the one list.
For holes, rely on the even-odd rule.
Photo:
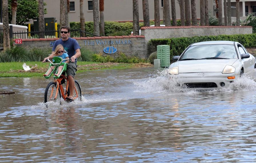
{"label": "silver hood of the car between windshield and headlights", "polygon": [[202,59],[178,61],[174,66],[178,66],[179,73],[199,73],[199,72],[222,72],[226,65],[232,65],[237,59]]}

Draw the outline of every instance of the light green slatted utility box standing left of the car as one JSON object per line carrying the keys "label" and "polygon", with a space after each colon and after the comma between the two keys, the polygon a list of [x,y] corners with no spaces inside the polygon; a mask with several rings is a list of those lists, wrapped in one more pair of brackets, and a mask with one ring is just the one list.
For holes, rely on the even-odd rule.
{"label": "light green slatted utility box standing left of the car", "polygon": [[160,59],[161,67],[170,66],[170,46],[158,45],[157,46],[157,59]]}

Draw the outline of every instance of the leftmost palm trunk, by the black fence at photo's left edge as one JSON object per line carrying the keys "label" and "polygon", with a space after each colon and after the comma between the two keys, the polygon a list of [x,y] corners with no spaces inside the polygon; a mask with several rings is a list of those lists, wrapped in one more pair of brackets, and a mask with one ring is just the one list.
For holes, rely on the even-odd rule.
{"label": "leftmost palm trunk, by the black fence at photo's left edge", "polygon": [[3,50],[10,48],[8,0],[3,0]]}

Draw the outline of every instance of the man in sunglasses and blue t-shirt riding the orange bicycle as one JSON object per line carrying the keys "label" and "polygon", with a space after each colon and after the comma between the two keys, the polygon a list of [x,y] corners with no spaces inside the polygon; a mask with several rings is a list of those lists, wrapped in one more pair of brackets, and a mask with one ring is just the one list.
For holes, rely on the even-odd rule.
{"label": "man in sunglasses and blue t-shirt riding the orange bicycle", "polygon": [[61,33],[61,39],[56,40],[53,44],[52,53],[49,55],[49,57],[46,57],[43,62],[47,61],[47,59],[52,59],[54,57],[54,51],[58,44],[61,44],[64,49],[68,52],[68,56],[72,62],[68,63],[67,66],[67,77],[69,81],[69,87],[70,89],[70,95],[67,97],[68,100],[73,101],[73,94],[74,94],[74,77],[76,75],[77,71],[77,58],[81,56],[80,52],[80,46],[78,42],[70,38],[70,27],[68,26],[62,26],[60,29]]}

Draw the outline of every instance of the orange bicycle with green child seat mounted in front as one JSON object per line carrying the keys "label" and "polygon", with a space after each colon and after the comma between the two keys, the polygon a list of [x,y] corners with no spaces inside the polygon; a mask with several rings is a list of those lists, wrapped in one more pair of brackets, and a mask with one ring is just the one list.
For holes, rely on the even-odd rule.
{"label": "orange bicycle with green child seat mounted in front", "polygon": [[[65,101],[70,102],[70,100],[67,99],[69,96],[69,87],[68,87],[68,77],[66,76],[66,69],[67,69],[67,63],[62,63],[62,61],[66,61],[70,59],[62,59],[60,57],[53,57],[54,62],[52,63],[49,59],[47,61],[50,62],[50,66],[48,71],[51,71],[49,76],[45,76],[46,79],[49,79],[53,73],[57,73],[58,67],[60,65],[63,65],[63,69],[61,70],[61,73],[59,76],[54,76],[54,81],[50,82],[44,92],[44,102],[60,102],[61,104],[61,98],[63,98]],[[55,66],[54,69],[52,69],[52,66]],[[47,71],[47,72],[48,72]],[[63,84],[66,84],[66,89],[64,90]],[[81,87],[77,81],[75,81],[74,84],[74,100],[82,100],[82,93],[81,93]]]}

